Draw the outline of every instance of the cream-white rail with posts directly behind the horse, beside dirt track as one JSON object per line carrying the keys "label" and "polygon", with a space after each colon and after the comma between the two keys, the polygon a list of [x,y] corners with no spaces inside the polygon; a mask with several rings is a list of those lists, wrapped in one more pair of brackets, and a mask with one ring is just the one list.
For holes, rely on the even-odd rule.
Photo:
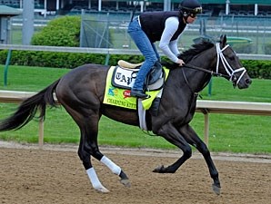
{"label": "cream-white rail with posts directly behind the horse, beside dirt track", "polygon": [[[35,92],[15,92],[0,91],[0,102],[23,102],[25,98],[34,95]],[[205,142],[208,144],[209,138],[209,113],[227,114],[249,114],[271,116],[271,102],[224,102],[224,101],[204,101],[196,102],[196,112],[205,115]],[[39,147],[44,144],[44,121],[39,122]]]}

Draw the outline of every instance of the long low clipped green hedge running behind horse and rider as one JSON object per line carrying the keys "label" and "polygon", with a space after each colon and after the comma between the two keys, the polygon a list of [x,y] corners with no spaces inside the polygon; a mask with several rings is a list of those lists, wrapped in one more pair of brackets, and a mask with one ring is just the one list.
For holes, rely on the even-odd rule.
{"label": "long low clipped green hedge running behind horse and rider", "polygon": [[[1,64],[5,64],[6,56],[6,50],[0,51]],[[10,64],[73,69],[85,63],[105,64],[105,58],[105,54],[96,53],[13,51]],[[144,60],[143,56],[140,55],[112,54],[110,56],[109,65],[115,65],[120,59],[130,63],[140,63]],[[246,67],[250,77],[271,79],[271,61],[241,60],[241,62]]]}

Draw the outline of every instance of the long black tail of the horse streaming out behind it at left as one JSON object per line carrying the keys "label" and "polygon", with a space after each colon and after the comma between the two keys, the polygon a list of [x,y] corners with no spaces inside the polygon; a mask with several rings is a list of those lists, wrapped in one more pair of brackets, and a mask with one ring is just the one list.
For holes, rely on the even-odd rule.
{"label": "long black tail of the horse streaming out behind it at left", "polygon": [[46,87],[41,92],[25,99],[17,111],[4,121],[0,121],[0,131],[18,130],[24,127],[29,121],[35,117],[35,113],[39,110],[40,115],[38,118],[45,119],[46,105],[55,107],[56,102],[53,97],[55,87],[59,83],[60,79]]}

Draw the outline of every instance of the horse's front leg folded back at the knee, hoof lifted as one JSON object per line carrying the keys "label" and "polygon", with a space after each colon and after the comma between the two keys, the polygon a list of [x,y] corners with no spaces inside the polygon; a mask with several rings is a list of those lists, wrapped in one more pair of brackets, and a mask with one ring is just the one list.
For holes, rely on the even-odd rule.
{"label": "horse's front leg folded back at the knee, hoof lifted", "polygon": [[157,173],[175,173],[176,170],[192,156],[192,149],[190,145],[186,142],[184,137],[176,130],[172,123],[167,122],[164,124],[156,133],[169,141],[170,143],[176,145],[180,148],[184,154],[183,156],[176,160],[175,163],[168,167],[164,167],[164,165],[157,167],[153,172]]}

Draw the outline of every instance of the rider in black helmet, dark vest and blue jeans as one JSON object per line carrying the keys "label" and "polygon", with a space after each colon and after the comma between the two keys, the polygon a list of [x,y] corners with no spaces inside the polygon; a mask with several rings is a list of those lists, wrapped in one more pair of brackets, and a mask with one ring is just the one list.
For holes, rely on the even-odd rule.
{"label": "rider in black helmet, dark vest and blue jeans", "polygon": [[193,24],[196,15],[200,13],[202,13],[202,7],[197,0],[183,0],[179,5],[179,11],[142,13],[131,21],[127,32],[145,56],[145,62],[135,78],[131,96],[147,97],[143,90],[146,75],[154,64],[160,61],[156,41],[160,41],[159,48],[172,62],[180,66],[184,64],[182,59],[176,57],[179,53],[177,41],[185,30],[186,24]]}

